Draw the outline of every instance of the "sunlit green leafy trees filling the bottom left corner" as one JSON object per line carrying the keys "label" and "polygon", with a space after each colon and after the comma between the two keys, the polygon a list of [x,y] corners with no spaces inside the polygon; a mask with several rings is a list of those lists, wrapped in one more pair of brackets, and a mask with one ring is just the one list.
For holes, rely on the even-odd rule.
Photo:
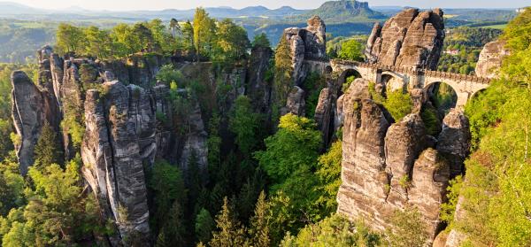
{"label": "sunlit green leafy trees filling the bottom left corner", "polygon": [[74,158],[65,170],[53,164],[43,173],[30,168],[35,189],[26,189],[26,206],[1,219],[11,226],[4,231],[3,246],[73,245],[103,229],[95,198],[81,193],[80,163]]}

